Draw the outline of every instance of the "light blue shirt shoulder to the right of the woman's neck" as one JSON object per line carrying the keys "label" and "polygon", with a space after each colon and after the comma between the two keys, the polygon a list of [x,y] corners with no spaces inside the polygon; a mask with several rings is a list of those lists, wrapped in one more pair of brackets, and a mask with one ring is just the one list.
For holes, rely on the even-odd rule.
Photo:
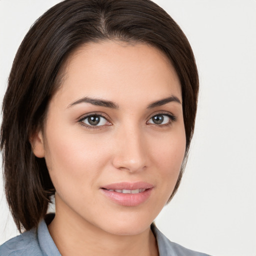
{"label": "light blue shirt shoulder to the right of the woman's neck", "polygon": [[170,241],[159,229],[154,225],[151,225],[158,245],[160,256],[209,256],[208,254],[197,252],[194,250],[187,249],[175,242]]}

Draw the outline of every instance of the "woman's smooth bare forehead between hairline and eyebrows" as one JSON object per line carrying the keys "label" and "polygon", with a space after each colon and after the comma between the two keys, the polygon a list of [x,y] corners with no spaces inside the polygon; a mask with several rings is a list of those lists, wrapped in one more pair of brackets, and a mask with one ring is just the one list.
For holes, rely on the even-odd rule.
{"label": "woman's smooth bare forehead between hairline and eyebrows", "polygon": [[181,101],[180,82],[170,60],[148,44],[84,44],[68,57],[62,77],[56,95],[65,94],[67,101],[83,96],[112,101],[146,97],[153,101],[173,93]]}

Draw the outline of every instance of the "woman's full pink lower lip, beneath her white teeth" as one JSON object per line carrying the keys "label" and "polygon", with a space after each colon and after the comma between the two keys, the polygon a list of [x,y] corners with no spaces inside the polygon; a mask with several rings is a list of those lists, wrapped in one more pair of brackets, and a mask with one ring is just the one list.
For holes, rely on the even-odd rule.
{"label": "woman's full pink lower lip, beneath her white teeth", "polygon": [[151,194],[152,188],[148,188],[143,192],[131,194],[131,193],[118,193],[115,191],[109,191],[107,189],[102,189],[101,191],[106,195],[109,199],[114,201],[117,204],[123,206],[137,206],[143,202],[145,202]]}

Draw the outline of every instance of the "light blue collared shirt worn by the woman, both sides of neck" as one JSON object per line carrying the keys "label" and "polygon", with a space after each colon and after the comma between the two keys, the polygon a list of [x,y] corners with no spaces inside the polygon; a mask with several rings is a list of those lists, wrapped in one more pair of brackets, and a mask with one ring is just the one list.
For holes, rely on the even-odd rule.
{"label": "light blue collared shirt worn by the woman, both sides of neck", "polygon": [[[157,240],[159,256],[209,256],[171,242],[154,224],[151,225],[151,229]],[[61,254],[49,234],[45,221],[41,220],[37,230],[33,228],[3,243],[0,246],[0,256],[61,256]]]}

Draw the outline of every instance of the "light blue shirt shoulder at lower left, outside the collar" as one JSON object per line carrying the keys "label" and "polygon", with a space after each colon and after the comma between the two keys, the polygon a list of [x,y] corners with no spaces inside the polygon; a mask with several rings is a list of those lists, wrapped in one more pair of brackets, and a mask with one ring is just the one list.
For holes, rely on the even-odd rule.
{"label": "light blue shirt shoulder at lower left, outside the collar", "polygon": [[35,229],[13,237],[0,245],[1,256],[42,256]]}

